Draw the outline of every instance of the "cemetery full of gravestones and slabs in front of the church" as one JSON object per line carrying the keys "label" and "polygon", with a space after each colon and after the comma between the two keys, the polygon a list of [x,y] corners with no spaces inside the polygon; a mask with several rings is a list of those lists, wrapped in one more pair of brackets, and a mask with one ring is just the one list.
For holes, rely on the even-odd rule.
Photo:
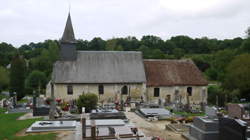
{"label": "cemetery full of gravestones and slabs in front of the church", "polygon": [[[246,140],[250,137],[249,104],[229,103],[226,111],[220,111],[215,106],[205,106],[204,115],[202,110],[193,110],[192,112],[199,112],[201,115],[195,116],[197,113],[188,113],[185,107],[178,104],[164,106],[131,103],[125,106],[108,103],[98,104],[89,113],[83,107],[80,113],[75,101],[68,102],[65,107],[65,102],[60,99],[55,99],[54,102],[51,99],[48,102],[43,96],[26,99],[25,103],[15,102],[14,98],[1,101],[2,108],[5,108],[3,113],[21,113],[23,117],[20,118],[24,120],[24,114],[31,113],[28,118],[36,119],[26,125],[25,135],[49,132],[49,135],[53,135],[51,137],[55,137],[55,133],[70,132],[69,137],[75,140],[151,140],[154,137],[164,138],[166,135],[178,137],[178,140]],[[146,125],[142,125],[143,123]],[[150,132],[148,127],[152,129]]]}

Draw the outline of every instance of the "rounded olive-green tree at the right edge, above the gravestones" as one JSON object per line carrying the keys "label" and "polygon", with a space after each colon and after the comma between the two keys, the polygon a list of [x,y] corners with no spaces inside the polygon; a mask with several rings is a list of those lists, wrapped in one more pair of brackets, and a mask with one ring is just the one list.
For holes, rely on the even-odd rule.
{"label": "rounded olive-green tree at the right edge, above the gravestones", "polygon": [[240,90],[241,96],[250,99],[250,54],[236,56],[227,66],[223,82],[225,89]]}

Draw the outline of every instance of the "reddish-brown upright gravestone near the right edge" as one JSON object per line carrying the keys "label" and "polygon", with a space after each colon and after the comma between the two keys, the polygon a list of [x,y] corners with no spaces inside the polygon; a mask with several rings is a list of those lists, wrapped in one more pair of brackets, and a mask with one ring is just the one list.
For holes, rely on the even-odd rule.
{"label": "reddish-brown upright gravestone near the right edge", "polygon": [[228,109],[228,116],[231,118],[238,118],[242,119],[245,109],[244,106],[241,104],[228,104],[227,105]]}

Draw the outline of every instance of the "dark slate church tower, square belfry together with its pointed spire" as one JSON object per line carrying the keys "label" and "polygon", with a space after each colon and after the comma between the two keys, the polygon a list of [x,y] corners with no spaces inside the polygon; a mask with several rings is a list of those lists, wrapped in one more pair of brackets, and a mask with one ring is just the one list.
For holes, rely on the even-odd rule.
{"label": "dark slate church tower, square belfry together with its pointed spire", "polygon": [[63,32],[63,36],[60,43],[60,60],[62,61],[74,61],[76,60],[76,39],[71,22],[70,13],[66,22],[66,26]]}

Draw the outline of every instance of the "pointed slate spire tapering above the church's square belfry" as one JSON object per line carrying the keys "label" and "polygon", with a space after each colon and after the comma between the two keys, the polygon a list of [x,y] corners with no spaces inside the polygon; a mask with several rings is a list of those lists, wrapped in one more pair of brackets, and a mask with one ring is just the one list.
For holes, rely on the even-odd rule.
{"label": "pointed slate spire tapering above the church's square belfry", "polygon": [[65,42],[65,43],[75,43],[76,42],[70,13],[68,15],[68,19],[66,22],[66,26],[65,26],[65,29],[63,32],[61,42]]}

